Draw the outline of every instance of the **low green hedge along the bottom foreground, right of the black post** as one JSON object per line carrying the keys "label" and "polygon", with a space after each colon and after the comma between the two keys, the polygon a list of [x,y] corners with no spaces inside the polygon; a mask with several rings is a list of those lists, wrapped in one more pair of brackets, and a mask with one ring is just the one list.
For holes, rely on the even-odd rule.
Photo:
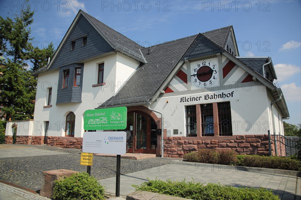
{"label": "low green hedge along the bottom foreground, right of the black post", "polygon": [[208,183],[204,185],[200,182],[185,180],[150,180],[140,185],[132,185],[136,190],[152,191],[167,195],[191,198],[196,200],[205,199],[235,199],[235,200],[279,200],[279,197],[265,188],[233,187],[221,184]]}

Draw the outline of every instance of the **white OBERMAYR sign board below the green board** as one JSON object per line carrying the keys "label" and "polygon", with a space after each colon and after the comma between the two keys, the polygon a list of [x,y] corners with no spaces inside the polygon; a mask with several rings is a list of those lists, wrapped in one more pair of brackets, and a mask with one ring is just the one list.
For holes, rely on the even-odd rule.
{"label": "white OBERMAYR sign board below the green board", "polygon": [[125,154],[126,133],[124,131],[85,132],[83,152],[104,154]]}

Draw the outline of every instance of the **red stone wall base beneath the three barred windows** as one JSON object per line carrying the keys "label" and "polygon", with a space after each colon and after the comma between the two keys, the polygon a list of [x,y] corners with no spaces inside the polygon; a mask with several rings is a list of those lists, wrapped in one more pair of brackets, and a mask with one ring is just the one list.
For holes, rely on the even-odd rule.
{"label": "red stone wall base beneath the three barred windows", "polygon": [[[268,136],[265,134],[208,137],[164,137],[164,155],[168,157],[183,157],[185,153],[197,151],[200,148],[233,149],[238,154],[269,155]],[[273,144],[272,144],[273,149]],[[274,150],[272,150],[272,154]]]}

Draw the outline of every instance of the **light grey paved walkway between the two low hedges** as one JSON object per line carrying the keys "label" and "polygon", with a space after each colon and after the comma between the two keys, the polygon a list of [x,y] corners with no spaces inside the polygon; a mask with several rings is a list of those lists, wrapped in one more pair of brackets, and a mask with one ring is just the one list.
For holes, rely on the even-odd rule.
{"label": "light grey paved walkway between the two low hedges", "polygon": [[[202,183],[214,182],[236,187],[264,187],[272,189],[282,200],[300,199],[300,178],[293,175],[282,175],[266,172],[250,172],[237,170],[226,166],[216,168],[211,164],[193,166],[191,164],[167,164],[133,173],[123,174],[120,177],[120,195],[126,196],[134,191],[132,184],[140,184],[150,179],[171,179],[197,181]],[[99,180],[105,186],[106,192],[115,193],[115,177]]]}

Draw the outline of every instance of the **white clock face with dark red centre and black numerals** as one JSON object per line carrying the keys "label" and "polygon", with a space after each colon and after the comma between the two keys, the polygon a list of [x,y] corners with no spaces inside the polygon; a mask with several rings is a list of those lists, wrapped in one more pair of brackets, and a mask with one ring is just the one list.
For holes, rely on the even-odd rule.
{"label": "white clock face with dark red centre and black numerals", "polygon": [[197,87],[218,86],[218,74],[218,64],[215,60],[201,60],[191,65],[191,82]]}

